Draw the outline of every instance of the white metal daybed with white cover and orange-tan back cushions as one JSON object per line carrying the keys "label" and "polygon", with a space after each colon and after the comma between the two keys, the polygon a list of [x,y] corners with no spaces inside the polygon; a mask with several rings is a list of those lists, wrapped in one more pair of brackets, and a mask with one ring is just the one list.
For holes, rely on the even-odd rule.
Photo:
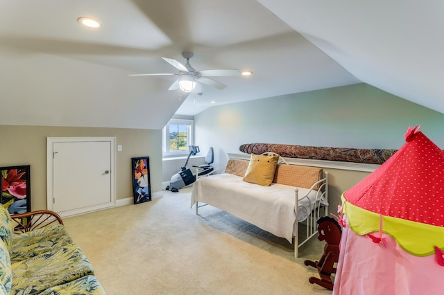
{"label": "white metal daybed with white cover and orange-tan back cushions", "polygon": [[[316,219],[327,215],[327,172],[289,165],[280,158],[281,163],[275,166],[271,178],[273,182],[263,186],[244,181],[252,160],[234,157],[230,155],[223,173],[196,180],[191,207],[196,205],[198,214],[199,207],[209,204],[290,243],[294,240],[297,244],[294,253],[298,257],[298,247],[317,233]],[[301,240],[298,222],[305,222],[306,233]]]}

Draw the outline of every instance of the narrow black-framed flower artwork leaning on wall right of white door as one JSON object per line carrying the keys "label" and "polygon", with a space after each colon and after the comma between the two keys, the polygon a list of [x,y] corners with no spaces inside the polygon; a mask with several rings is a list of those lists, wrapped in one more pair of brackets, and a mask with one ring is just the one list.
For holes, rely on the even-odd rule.
{"label": "narrow black-framed flower artwork leaning on wall right of white door", "polygon": [[133,171],[134,204],[151,201],[150,159],[149,157],[131,158]]}

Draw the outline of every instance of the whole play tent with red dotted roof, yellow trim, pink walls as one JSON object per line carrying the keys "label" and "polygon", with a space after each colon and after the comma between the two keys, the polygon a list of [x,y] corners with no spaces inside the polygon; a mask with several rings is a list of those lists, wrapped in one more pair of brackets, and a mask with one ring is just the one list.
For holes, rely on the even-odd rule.
{"label": "whole play tent with red dotted roof, yellow trim, pink walls", "polygon": [[334,294],[444,294],[444,152],[419,128],[343,194]]}

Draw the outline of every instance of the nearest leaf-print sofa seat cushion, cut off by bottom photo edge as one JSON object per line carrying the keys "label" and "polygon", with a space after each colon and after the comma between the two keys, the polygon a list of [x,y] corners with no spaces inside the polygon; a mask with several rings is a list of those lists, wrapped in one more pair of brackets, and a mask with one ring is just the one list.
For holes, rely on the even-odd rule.
{"label": "nearest leaf-print sofa seat cushion, cut off by bottom photo edge", "polygon": [[105,295],[105,289],[94,276],[84,276],[64,285],[44,290],[40,295],[90,294]]}

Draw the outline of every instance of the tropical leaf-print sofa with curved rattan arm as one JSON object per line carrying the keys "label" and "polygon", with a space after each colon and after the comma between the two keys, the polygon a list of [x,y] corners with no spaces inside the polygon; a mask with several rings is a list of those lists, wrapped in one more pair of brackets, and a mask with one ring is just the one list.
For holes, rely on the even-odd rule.
{"label": "tropical leaf-print sofa with curved rattan arm", "polygon": [[10,215],[0,204],[0,295],[105,294],[92,265],[51,211]]}

